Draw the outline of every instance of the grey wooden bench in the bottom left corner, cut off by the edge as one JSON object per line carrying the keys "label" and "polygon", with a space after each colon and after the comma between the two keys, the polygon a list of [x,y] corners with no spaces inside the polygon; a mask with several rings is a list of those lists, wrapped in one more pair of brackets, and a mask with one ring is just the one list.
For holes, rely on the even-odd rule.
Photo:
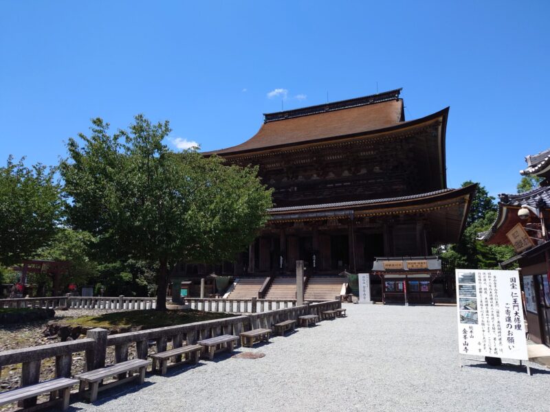
{"label": "grey wooden bench in the bottom left corner, cut off by the edge", "polygon": [[[40,404],[39,407],[46,407],[50,404],[61,402],[61,410],[66,411],[69,408],[69,396],[71,394],[71,388],[76,385],[78,380],[70,378],[56,378],[52,380],[46,380],[35,385],[28,385],[25,387],[12,389],[11,391],[5,391],[0,393],[0,406],[9,404],[12,402],[19,402],[35,396],[43,395],[44,393],[51,393],[50,402]],[[55,393],[61,391],[61,398],[54,399]]]}

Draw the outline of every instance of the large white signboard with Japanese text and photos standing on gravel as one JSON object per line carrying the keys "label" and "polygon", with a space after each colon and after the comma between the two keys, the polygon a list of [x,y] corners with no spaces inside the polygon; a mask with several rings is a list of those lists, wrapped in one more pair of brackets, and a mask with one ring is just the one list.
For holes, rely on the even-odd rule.
{"label": "large white signboard with Japanese text and photos standing on gravel", "polygon": [[456,269],[459,353],[527,361],[518,271]]}

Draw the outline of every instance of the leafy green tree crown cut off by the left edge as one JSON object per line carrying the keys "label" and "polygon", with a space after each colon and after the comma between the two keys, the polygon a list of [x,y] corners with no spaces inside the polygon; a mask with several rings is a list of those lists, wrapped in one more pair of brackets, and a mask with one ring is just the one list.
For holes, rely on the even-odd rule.
{"label": "leafy green tree crown cut off by the left edge", "polygon": [[0,263],[28,259],[56,233],[62,219],[61,185],[55,170],[8,158],[0,168]]}

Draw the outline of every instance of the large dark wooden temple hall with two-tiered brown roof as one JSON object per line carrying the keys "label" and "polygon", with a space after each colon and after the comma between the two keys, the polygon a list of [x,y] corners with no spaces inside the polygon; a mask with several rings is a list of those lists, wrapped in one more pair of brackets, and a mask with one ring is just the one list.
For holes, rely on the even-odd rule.
{"label": "large dark wooden temple hall with two-tiered brown roof", "polygon": [[235,262],[180,275],[292,276],[297,260],[309,277],[368,273],[376,258],[426,260],[457,242],[476,187],[447,187],[449,108],[406,120],[400,93],[267,113],[247,141],[204,153],[258,165],[274,207]]}

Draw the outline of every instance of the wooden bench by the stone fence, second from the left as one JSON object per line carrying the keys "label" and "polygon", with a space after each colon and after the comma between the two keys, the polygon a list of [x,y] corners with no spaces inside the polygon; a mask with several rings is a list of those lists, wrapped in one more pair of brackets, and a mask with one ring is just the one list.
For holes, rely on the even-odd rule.
{"label": "wooden bench by the stone fence, second from the left", "polygon": [[[132,359],[131,361],[125,361],[117,363],[116,365],[109,367],[102,367],[100,369],[94,369],[93,371],[84,372],[83,374],[75,375],[74,377],[80,380],[80,387],[78,392],[83,393],[86,390],[86,384],[88,384],[90,402],[95,402],[98,398],[98,391],[120,385],[128,380],[138,378],[140,384],[145,380],[145,369],[149,364],[145,359]],[[139,374],[133,376],[132,372],[138,370]],[[111,376],[125,374],[129,372],[128,378],[119,379],[109,385],[104,385],[101,388],[99,384],[105,378],[111,378]]]}

